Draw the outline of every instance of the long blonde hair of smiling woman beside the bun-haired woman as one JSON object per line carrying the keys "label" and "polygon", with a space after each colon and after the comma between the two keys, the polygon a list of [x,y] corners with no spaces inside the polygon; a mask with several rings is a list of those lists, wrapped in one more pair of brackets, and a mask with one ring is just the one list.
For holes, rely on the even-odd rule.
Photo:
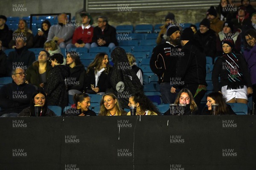
{"label": "long blonde hair of smiling woman beside the bun-haired woman", "polygon": [[104,105],[104,97],[105,96],[111,96],[113,98],[113,100],[116,99],[116,110],[117,110],[117,115],[118,116],[121,116],[122,114],[122,109],[120,108],[120,105],[119,105],[119,102],[118,102],[118,99],[117,97],[113,94],[113,93],[107,93],[107,94],[104,94],[102,96],[102,99],[100,101],[100,111],[99,111],[99,116],[107,116],[107,114],[109,113],[109,111],[105,108],[105,105]]}

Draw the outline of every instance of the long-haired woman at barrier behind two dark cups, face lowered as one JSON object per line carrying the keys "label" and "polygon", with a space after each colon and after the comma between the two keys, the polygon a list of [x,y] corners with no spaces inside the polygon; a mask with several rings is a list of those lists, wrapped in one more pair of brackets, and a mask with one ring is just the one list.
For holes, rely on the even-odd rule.
{"label": "long-haired woman at barrier behind two dark cups, face lowered", "polygon": [[[184,115],[195,115],[198,114],[198,107],[195,103],[192,93],[187,88],[183,88],[179,91],[174,104],[186,104],[186,110]],[[164,113],[164,115],[171,115],[170,109]]]}

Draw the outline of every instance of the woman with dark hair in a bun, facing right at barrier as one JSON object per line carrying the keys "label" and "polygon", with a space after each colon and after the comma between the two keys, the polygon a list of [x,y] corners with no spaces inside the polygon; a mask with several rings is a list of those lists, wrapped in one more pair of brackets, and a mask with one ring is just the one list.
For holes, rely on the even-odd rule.
{"label": "woman with dark hair in a bun, facing right at barrier", "polygon": [[88,94],[75,94],[73,100],[75,107],[66,110],[66,116],[97,116],[94,111],[90,110],[90,96]]}

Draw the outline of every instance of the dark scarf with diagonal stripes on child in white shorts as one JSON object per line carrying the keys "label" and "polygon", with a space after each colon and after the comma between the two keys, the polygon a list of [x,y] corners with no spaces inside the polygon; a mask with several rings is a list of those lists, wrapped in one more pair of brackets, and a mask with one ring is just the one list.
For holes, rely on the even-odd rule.
{"label": "dark scarf with diagonal stripes on child in white shorts", "polygon": [[225,66],[227,67],[228,74],[228,85],[227,89],[239,89],[244,88],[243,82],[242,82],[242,76],[240,67],[239,67],[239,60],[236,57],[236,55],[231,52],[229,54],[223,54],[223,57],[225,58]]}

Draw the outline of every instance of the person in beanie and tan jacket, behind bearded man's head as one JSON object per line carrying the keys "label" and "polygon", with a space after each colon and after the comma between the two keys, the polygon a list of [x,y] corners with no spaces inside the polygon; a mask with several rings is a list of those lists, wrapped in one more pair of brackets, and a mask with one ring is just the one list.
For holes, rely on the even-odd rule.
{"label": "person in beanie and tan jacket, behind bearded man's head", "polygon": [[165,17],[165,24],[163,26],[160,26],[160,32],[157,36],[157,44],[163,43],[166,41],[167,37],[166,37],[166,31],[167,31],[167,26],[169,23],[173,23],[173,20],[175,18],[175,15],[172,13],[169,13],[166,15]]}

